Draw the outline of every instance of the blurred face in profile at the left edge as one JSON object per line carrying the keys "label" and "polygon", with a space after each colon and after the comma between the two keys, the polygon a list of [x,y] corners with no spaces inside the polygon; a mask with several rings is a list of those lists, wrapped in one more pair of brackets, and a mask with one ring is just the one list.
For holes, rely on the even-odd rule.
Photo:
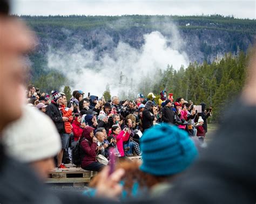
{"label": "blurred face in profile at the left edge", "polygon": [[24,54],[36,43],[33,32],[21,20],[8,16],[8,11],[8,1],[0,0],[0,133],[4,126],[21,117]]}

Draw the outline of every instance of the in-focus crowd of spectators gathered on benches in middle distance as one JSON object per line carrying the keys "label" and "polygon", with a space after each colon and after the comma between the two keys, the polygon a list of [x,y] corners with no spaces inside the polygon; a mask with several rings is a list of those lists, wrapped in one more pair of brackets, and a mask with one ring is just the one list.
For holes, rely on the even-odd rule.
{"label": "in-focus crowd of spectators gathered on benches in middle distance", "polygon": [[138,94],[133,100],[123,101],[118,96],[106,101],[104,96],[84,95],[82,90],[75,90],[71,99],[66,99],[64,93],[53,90],[50,97],[41,94],[33,85],[29,85],[26,91],[29,105],[45,112],[59,132],[62,151],[57,155],[58,168],[66,168],[64,152],[68,152],[70,158],[74,157],[71,149],[75,149],[76,144],[80,149],[77,150],[80,152],[78,164],[85,170],[102,170],[110,159],[111,147],[118,159],[142,156],[140,138],[147,129],[162,123],[176,125],[204,143],[207,117],[212,111],[211,107],[206,109],[205,103],[200,104],[201,111],[198,112],[193,102],[182,97],[174,101],[173,94],[167,95],[165,90],[160,92],[158,102],[153,93],[147,97]]}

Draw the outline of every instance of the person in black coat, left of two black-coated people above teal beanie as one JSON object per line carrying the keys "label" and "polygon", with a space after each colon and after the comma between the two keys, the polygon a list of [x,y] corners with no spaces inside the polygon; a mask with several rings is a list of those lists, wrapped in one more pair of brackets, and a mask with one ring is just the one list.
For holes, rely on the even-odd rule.
{"label": "person in black coat, left of two black-coated people above teal beanie", "polygon": [[153,126],[154,114],[152,114],[151,110],[154,106],[152,101],[147,101],[145,104],[145,110],[142,112],[142,129],[145,131]]}

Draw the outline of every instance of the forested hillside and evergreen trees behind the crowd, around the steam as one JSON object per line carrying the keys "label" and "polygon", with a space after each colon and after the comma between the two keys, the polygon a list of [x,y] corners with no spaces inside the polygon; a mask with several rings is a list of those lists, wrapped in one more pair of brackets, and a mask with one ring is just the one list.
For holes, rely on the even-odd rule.
{"label": "forested hillside and evergreen trees behind the crowd, around the steam", "polygon": [[[41,89],[50,92],[51,89],[73,87],[74,84],[72,79],[67,78],[70,74],[68,69],[49,69],[50,51],[62,51],[59,55],[63,55],[63,58],[68,58],[65,57],[65,52],[92,51],[93,61],[97,62],[106,54],[116,52],[120,43],[139,50],[145,44],[145,34],[158,31],[163,37],[170,39],[167,46],[174,47],[179,53],[186,53],[190,65],[181,66],[179,71],[171,64],[168,67],[167,64],[156,67],[157,73],[153,77],[145,73],[139,86],[128,79],[127,75],[122,82],[122,72],[117,70],[114,76],[118,78],[119,86],[130,87],[119,94],[122,97],[133,97],[138,92],[145,95],[149,92],[159,94],[160,90],[166,89],[169,93],[174,93],[174,97],[183,96],[195,104],[204,101],[213,105],[215,118],[226,100],[231,100],[244,85],[247,51],[253,45],[256,34],[256,20],[219,15],[21,18],[36,31],[39,39],[36,52],[29,57],[32,62],[31,82]],[[77,44],[79,48],[76,47]],[[78,67],[83,68],[88,67]],[[70,68],[70,72],[78,69]],[[90,65],[90,69],[100,72],[99,67],[94,67],[94,64]],[[110,93],[112,87],[110,83]]]}

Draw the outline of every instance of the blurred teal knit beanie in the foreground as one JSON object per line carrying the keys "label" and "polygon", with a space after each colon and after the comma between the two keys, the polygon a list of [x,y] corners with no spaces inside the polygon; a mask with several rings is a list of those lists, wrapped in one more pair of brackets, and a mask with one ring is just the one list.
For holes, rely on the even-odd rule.
{"label": "blurred teal knit beanie in the foreground", "polygon": [[152,175],[180,173],[198,156],[188,133],[166,123],[146,130],[140,145],[143,152],[140,170]]}

